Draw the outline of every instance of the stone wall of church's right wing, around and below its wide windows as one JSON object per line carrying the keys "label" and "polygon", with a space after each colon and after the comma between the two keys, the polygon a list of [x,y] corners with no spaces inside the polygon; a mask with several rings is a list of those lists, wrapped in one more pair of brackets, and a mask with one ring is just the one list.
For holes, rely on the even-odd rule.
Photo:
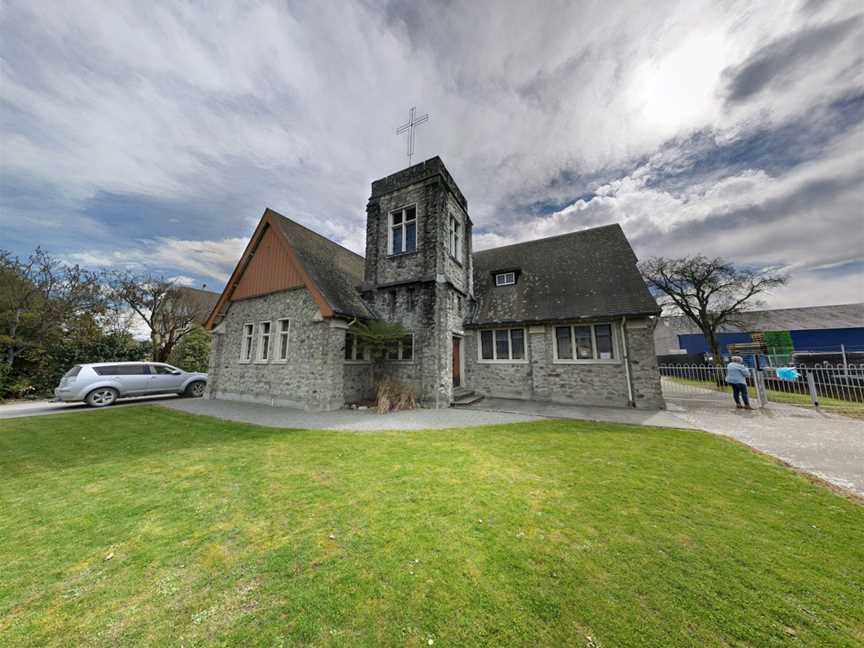
{"label": "stone wall of church's right wing, around and below its wide windows", "polygon": [[[629,322],[627,346],[635,405],[656,409],[664,407],[664,403],[651,324],[649,320]],[[465,345],[465,386],[493,397],[628,406],[620,322],[615,325],[618,357],[615,362],[556,363],[554,326],[526,326],[525,330],[528,362],[522,363],[481,362],[477,332],[469,331]]]}

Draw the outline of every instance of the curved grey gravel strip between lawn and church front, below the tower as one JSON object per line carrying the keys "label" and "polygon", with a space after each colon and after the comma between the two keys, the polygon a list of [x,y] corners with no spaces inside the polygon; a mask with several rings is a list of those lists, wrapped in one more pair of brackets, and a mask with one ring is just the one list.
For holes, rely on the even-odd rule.
{"label": "curved grey gravel strip between lawn and church front, below the tower", "polygon": [[542,420],[540,416],[509,412],[486,412],[468,409],[416,409],[380,415],[373,410],[336,410],[335,412],[305,412],[290,407],[271,407],[257,403],[178,399],[160,403],[165,407],[203,414],[229,421],[256,425],[305,430],[429,430],[473,425],[497,425]]}

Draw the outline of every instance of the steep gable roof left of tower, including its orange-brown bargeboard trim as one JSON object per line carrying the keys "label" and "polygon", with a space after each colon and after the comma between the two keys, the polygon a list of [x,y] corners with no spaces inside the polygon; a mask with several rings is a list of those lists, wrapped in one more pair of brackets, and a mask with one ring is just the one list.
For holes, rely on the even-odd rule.
{"label": "steep gable roof left of tower, including its orange-brown bargeboard trim", "polygon": [[258,245],[269,231],[274,232],[284,244],[291,265],[296,269],[302,285],[309,290],[324,317],[342,315],[369,318],[372,316],[356,290],[356,286],[363,281],[363,257],[267,208],[237,262],[234,272],[231,273],[225,290],[222,291],[210,313],[206,323],[207,328],[213,328],[224,316],[243,273],[254,258]]}

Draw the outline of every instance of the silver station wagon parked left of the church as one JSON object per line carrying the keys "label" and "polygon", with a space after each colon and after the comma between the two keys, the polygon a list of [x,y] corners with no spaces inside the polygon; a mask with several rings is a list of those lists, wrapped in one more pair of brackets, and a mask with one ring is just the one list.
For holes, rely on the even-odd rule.
{"label": "silver station wagon parked left of the church", "polygon": [[161,362],[96,362],[67,371],[54,396],[60,401],[105,407],[127,396],[202,396],[206,386],[207,374],[189,373]]}

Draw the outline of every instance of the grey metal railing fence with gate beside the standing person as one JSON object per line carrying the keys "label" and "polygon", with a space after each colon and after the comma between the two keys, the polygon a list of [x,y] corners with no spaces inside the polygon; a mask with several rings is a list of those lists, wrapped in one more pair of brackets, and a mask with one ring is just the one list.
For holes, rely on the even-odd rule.
{"label": "grey metal railing fence with gate beside the standing person", "polygon": [[[864,365],[828,364],[818,366],[787,365],[797,377],[779,367],[750,371],[748,392],[754,406],[786,403],[804,407],[822,407],[864,415]],[[781,375],[786,373],[787,376]],[[729,403],[730,387],[726,370],[714,365],[661,365],[663,395],[673,400]]]}

